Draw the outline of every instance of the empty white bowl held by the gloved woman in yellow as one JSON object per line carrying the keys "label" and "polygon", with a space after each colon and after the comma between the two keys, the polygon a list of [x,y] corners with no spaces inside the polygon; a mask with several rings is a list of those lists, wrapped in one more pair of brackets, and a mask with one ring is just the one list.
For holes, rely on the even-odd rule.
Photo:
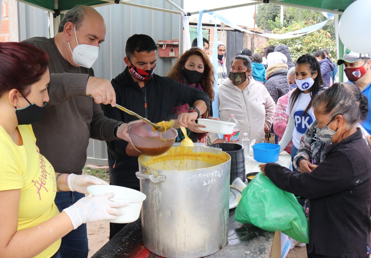
{"label": "empty white bowl held by the gloved woman in yellow", "polygon": [[107,222],[130,223],[139,218],[142,203],[147,196],[144,193],[134,189],[122,186],[112,185],[92,185],[87,188],[91,195],[103,195],[105,193],[115,193],[115,196],[109,200],[114,202],[128,202],[129,205],[118,208],[123,215],[115,215],[117,218]]}

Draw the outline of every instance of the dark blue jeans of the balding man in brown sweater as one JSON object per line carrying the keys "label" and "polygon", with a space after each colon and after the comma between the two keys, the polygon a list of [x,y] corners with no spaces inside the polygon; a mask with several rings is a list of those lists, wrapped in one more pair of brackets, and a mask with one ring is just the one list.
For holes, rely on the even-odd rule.
{"label": "dark blue jeans of the balding man in brown sweater", "polygon": [[[63,209],[73,205],[82,197],[85,197],[83,193],[57,192],[54,202],[57,205],[59,212],[62,212]],[[82,224],[62,237],[62,244],[60,244],[57,258],[87,258],[88,252],[89,248],[86,224]]]}

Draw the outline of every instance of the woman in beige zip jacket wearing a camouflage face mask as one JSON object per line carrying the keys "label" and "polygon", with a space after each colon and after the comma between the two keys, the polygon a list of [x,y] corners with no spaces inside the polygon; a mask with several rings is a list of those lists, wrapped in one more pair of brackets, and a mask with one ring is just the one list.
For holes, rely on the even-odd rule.
{"label": "woman in beige zip jacket wearing a camouflage face mask", "polygon": [[[240,124],[240,140],[248,133],[250,141],[261,143],[272,127],[276,106],[265,86],[249,76],[251,72],[247,56],[234,58],[229,78],[218,86],[219,118],[228,121],[234,114]],[[223,143],[217,134],[210,133],[209,137],[213,144]]]}

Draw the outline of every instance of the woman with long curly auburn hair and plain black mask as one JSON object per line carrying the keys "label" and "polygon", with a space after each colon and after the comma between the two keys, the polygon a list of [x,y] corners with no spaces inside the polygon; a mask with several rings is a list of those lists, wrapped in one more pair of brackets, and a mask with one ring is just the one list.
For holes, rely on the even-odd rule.
{"label": "woman with long curly auburn hair and plain black mask", "polygon": [[[210,104],[201,118],[209,118],[213,115],[211,109],[211,102],[214,100],[214,68],[209,58],[200,48],[191,48],[180,56],[179,60],[175,63],[173,69],[169,72],[167,77],[179,81],[183,84],[193,86],[201,91],[204,91],[210,97]],[[173,117],[177,118],[178,115],[188,112],[189,105],[185,104],[180,107],[175,107],[173,110]],[[207,133],[201,131],[199,128],[204,127],[193,122],[187,127],[187,135],[194,143],[205,143],[207,141]],[[184,135],[178,129],[177,142],[184,139]]]}

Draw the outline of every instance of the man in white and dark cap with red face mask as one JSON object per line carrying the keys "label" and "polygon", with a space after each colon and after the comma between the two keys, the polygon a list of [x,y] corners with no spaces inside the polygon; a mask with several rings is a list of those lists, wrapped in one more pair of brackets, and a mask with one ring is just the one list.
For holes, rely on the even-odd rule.
{"label": "man in white and dark cap with red face mask", "polygon": [[[344,63],[344,72],[350,82],[353,82],[371,103],[371,53],[356,53],[345,49],[344,56],[338,60],[338,65]],[[369,110],[370,110],[369,106]],[[362,126],[371,134],[371,113]]]}

